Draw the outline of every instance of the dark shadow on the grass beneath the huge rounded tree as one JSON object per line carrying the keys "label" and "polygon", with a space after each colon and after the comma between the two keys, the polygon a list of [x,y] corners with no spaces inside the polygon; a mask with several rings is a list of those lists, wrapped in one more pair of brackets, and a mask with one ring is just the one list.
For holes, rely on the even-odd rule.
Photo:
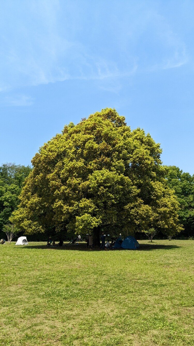
{"label": "dark shadow on the grass beneath the huge rounded tree", "polygon": [[[163,245],[163,244],[154,244],[154,243],[148,243],[148,244],[140,244],[140,248],[137,249],[136,251],[153,251],[153,250],[160,250],[160,249],[166,249],[166,250],[171,250],[171,249],[176,249],[179,248],[180,246],[177,245]],[[47,249],[48,251],[59,251],[59,250],[73,250],[73,251],[124,251],[125,249],[105,249],[101,250],[100,248],[87,248],[86,244],[65,244],[62,247],[59,246],[51,246],[48,247],[46,245],[23,245],[23,249]]]}

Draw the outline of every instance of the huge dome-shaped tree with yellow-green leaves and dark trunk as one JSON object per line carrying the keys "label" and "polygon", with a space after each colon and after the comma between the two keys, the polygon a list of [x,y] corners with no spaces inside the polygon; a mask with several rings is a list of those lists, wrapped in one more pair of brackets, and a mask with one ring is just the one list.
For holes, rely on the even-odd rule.
{"label": "huge dome-shaped tree with yellow-green leaves and dark trunk", "polygon": [[114,109],[65,126],[32,159],[33,170],[11,218],[25,233],[55,228],[111,235],[180,230],[178,202],[167,186],[161,148],[131,131]]}

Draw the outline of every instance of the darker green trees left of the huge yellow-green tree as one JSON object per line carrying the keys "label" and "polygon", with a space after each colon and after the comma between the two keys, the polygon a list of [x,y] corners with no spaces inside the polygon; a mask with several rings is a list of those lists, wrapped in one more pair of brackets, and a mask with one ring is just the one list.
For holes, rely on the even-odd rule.
{"label": "darker green trees left of the huge yellow-green tree", "polygon": [[0,230],[8,223],[11,213],[18,206],[22,184],[31,170],[30,166],[14,163],[0,166]]}

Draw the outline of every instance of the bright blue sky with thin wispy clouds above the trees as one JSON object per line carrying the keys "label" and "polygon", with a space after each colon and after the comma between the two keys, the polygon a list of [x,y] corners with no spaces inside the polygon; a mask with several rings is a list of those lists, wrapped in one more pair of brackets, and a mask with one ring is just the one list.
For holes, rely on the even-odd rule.
{"label": "bright blue sky with thin wispy clouds above the trees", "polygon": [[194,173],[194,1],[0,2],[0,164],[102,108]]}

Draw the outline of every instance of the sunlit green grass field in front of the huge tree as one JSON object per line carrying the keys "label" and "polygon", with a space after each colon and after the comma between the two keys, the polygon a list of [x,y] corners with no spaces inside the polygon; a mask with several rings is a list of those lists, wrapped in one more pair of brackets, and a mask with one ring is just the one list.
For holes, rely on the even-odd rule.
{"label": "sunlit green grass field in front of the huge tree", "polygon": [[0,345],[194,345],[194,241],[0,245]]}

